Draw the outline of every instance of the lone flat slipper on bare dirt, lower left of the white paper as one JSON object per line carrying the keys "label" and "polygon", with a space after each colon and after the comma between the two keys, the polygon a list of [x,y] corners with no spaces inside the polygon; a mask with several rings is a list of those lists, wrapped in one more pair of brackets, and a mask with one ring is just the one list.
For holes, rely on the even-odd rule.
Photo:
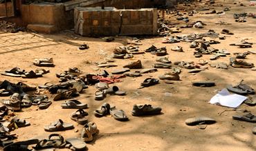
{"label": "lone flat slipper on bare dirt, lower left of the white paper", "polygon": [[216,123],[216,121],[209,117],[194,117],[185,120],[185,124],[187,125],[199,125],[199,124],[212,124]]}

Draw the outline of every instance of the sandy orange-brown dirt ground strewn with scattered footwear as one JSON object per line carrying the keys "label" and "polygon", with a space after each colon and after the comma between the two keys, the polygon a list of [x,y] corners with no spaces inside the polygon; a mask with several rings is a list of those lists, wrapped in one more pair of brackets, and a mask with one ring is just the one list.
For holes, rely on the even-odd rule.
{"label": "sandy orange-brown dirt ground strewn with scattered footwear", "polygon": [[[253,48],[236,48],[229,46],[230,43],[237,42],[241,38],[249,38],[251,42],[256,43],[256,19],[248,17],[246,23],[237,23],[233,19],[234,13],[254,12],[256,6],[248,6],[249,1],[241,1],[245,6],[233,4],[234,1],[221,1],[222,7],[214,7],[217,12],[223,8],[230,7],[226,14],[194,14],[189,17],[190,21],[201,20],[207,24],[205,28],[185,28],[181,29],[180,34],[203,33],[212,29],[218,33],[222,29],[228,29],[234,32],[234,35],[226,36],[226,40],[221,40],[220,44],[213,45],[214,48],[227,49],[231,52],[228,57],[221,57],[216,61],[229,63],[229,58],[233,52],[247,52],[255,50]],[[218,1],[219,3],[219,1]],[[216,3],[214,4],[216,5]],[[196,8],[203,6],[203,3],[196,3]],[[180,7],[185,7],[180,5]],[[189,8],[189,7],[187,7]],[[203,11],[202,11],[203,12]],[[173,22],[179,22],[181,26],[183,21],[176,21],[175,17],[165,16]],[[231,25],[220,26],[214,24],[217,21],[227,21]],[[175,34],[174,34],[175,35]],[[59,34],[35,34],[28,32],[18,33],[0,33],[0,70],[7,70],[13,67],[19,67],[25,70],[35,70],[33,60],[42,57],[53,57],[55,68],[47,68],[50,73],[45,74],[39,79],[21,79],[13,77],[0,76],[0,81],[5,79],[17,83],[19,81],[39,85],[46,82],[57,83],[58,79],[55,73],[68,70],[70,67],[77,67],[85,73],[99,73],[102,68],[98,68],[86,61],[98,62],[104,61],[104,57],[111,54],[113,48],[127,44],[127,39],[131,37],[115,37],[111,43],[104,42],[99,38],[80,37],[73,34],[72,31],[64,31]],[[208,38],[206,38],[208,39]],[[154,44],[157,47],[166,46],[169,59],[174,61],[194,61],[194,49],[189,48],[190,43],[180,42],[174,44],[161,43],[163,37],[147,37],[141,41],[140,50],[145,50]],[[219,39],[216,39],[219,40]],[[89,45],[88,50],[77,50],[77,46],[86,43]],[[182,46],[185,52],[174,52],[173,46]],[[211,55],[204,55],[203,59],[210,61]],[[136,54],[134,59],[116,59],[118,67],[129,61],[140,59],[144,68],[150,68],[155,63],[156,56],[150,53]],[[249,54],[246,61],[256,64],[256,55]],[[107,68],[108,72],[116,68]],[[98,125],[100,134],[95,137],[94,141],[87,144],[89,150],[256,150],[256,136],[252,134],[254,123],[232,120],[232,115],[241,113],[241,111],[232,110],[231,108],[211,105],[208,103],[216,94],[217,90],[226,88],[226,85],[239,83],[244,79],[245,83],[256,89],[255,72],[250,69],[232,68],[228,70],[211,68],[190,74],[188,70],[183,69],[180,76],[181,81],[174,81],[174,84],[167,84],[163,81],[158,85],[138,90],[140,83],[147,77],[158,77],[158,75],[167,72],[167,69],[158,69],[158,72],[143,74],[143,77],[126,77],[118,85],[122,90],[127,92],[125,97],[107,96],[103,101],[94,100],[96,88],[89,86],[84,93],[77,97],[80,101],[88,103],[89,121],[94,121]],[[214,81],[217,85],[210,88],[193,87],[192,81]],[[165,96],[169,92],[171,96]],[[53,97],[53,96],[50,96]],[[26,128],[19,128],[14,132],[18,135],[18,141],[30,139],[38,136],[48,136],[50,132],[44,131],[44,125],[52,121],[62,119],[66,122],[73,123],[75,130],[57,132],[65,138],[80,137],[82,125],[77,125],[75,121],[69,118],[71,112],[75,110],[62,109],[60,104],[63,101],[53,101],[53,104],[46,110],[37,110],[37,107],[22,109],[22,112],[15,112],[19,117],[26,118],[31,125]],[[116,105],[116,108],[122,109],[129,117],[129,121],[120,122],[111,116],[97,118],[94,117],[93,111],[107,102]],[[131,110],[134,104],[150,103],[160,106],[163,114],[152,117],[133,117]],[[242,104],[239,109],[250,110],[256,113],[255,107]],[[229,110],[223,112],[224,110]],[[221,114],[221,112],[223,112]],[[208,125],[205,130],[196,128],[196,126],[185,125],[185,119],[196,116],[207,116],[217,120],[217,123]],[[0,148],[1,150],[1,148]],[[67,150],[67,149],[62,149]]]}

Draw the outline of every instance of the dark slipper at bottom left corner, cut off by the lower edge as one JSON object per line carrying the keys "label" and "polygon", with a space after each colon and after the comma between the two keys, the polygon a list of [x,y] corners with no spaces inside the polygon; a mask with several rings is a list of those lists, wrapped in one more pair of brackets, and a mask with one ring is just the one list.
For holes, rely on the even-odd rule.
{"label": "dark slipper at bottom left corner, cut off by the lower edge", "polygon": [[33,145],[38,143],[38,139],[30,139],[27,141],[18,141],[15,143],[11,143],[10,145],[6,145],[3,148],[3,151],[25,151],[28,150],[28,145]]}

